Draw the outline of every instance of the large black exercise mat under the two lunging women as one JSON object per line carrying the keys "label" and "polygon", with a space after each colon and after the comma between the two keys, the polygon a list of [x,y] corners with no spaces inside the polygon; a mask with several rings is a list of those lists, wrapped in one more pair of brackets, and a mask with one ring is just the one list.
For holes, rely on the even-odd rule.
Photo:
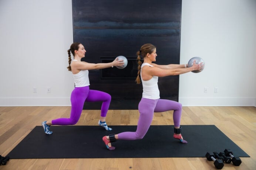
{"label": "large black exercise mat under the two lunging women", "polygon": [[182,125],[182,136],[188,144],[173,138],[171,125],[151,125],[143,139],[117,140],[115,150],[105,147],[102,137],[111,133],[136,131],[137,126],[51,126],[46,135],[36,126],[11,152],[11,159],[38,158],[144,158],[205,157],[206,152],[231,149],[234,156],[250,157],[215,125]]}

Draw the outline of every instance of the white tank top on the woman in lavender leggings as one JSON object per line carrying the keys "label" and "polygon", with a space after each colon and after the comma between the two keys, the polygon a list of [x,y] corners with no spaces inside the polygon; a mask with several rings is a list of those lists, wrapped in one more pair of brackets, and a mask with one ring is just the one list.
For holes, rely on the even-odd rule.
{"label": "white tank top on the woman in lavender leggings", "polygon": [[[149,63],[142,63],[141,72],[142,72],[142,67],[144,67],[145,65],[154,67],[154,66],[150,65]],[[146,80],[146,81],[144,81],[141,76],[141,82],[142,82],[142,87],[143,87],[143,92],[142,92],[143,98],[149,98],[149,99],[154,99],[154,100],[160,98],[160,92],[159,92],[158,84],[157,84],[158,83],[157,76],[153,76],[150,80]]]}

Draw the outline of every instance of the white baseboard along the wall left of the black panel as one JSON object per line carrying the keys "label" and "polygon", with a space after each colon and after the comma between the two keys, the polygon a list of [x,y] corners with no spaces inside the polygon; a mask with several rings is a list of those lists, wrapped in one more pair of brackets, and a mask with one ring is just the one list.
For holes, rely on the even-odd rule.
{"label": "white baseboard along the wall left of the black panel", "polygon": [[0,106],[71,106],[70,98],[0,98]]}

